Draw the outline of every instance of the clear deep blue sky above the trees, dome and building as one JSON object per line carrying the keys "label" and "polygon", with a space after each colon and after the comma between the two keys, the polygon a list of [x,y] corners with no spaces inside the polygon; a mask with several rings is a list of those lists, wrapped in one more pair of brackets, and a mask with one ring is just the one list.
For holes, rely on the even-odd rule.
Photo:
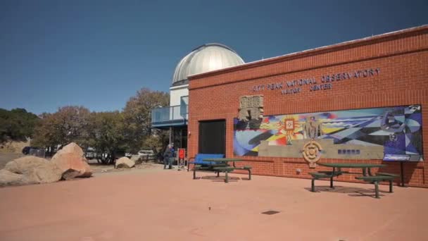
{"label": "clear deep blue sky above the trees, dome and building", "polygon": [[121,110],[220,42],[257,61],[428,23],[428,1],[0,1],[0,108]]}

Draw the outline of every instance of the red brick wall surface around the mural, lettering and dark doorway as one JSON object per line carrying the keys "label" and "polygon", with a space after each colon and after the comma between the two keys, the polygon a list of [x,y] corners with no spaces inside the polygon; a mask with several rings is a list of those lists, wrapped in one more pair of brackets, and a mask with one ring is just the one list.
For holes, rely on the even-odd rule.
{"label": "red brick wall surface around the mural, lettering and dark doorway", "polygon": [[[310,85],[303,85],[298,94],[282,95],[279,89],[253,92],[254,85],[312,77],[321,82],[322,75],[367,68],[380,68],[380,74],[333,82],[332,89],[316,92],[309,91]],[[428,187],[428,26],[192,76],[189,156],[198,151],[199,121],[225,119],[226,156],[232,157],[233,118],[238,115],[239,97],[251,94],[264,95],[265,116],[422,104],[425,161],[405,163],[405,179],[409,185]],[[308,172],[313,171],[301,158],[246,156],[244,159],[253,166],[253,173],[259,175],[309,178]],[[322,162],[382,161],[322,159]],[[387,164],[382,171],[400,172],[399,163]],[[296,173],[296,168],[302,172]],[[339,180],[355,181],[351,175],[343,175]]]}

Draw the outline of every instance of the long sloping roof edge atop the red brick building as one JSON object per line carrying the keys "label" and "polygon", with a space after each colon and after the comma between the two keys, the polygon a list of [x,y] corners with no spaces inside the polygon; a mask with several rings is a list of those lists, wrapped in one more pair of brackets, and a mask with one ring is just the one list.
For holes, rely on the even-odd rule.
{"label": "long sloping roof edge atop the red brick building", "polygon": [[213,71],[209,71],[206,73],[189,75],[189,76],[187,76],[187,79],[189,81],[192,81],[192,80],[197,80],[200,78],[205,78],[205,77],[208,77],[210,75],[218,75],[221,73],[232,72],[234,70],[244,70],[244,69],[248,69],[248,68],[253,68],[254,66],[265,66],[268,64],[277,63],[279,61],[286,61],[289,58],[301,58],[304,56],[320,54],[323,52],[325,53],[325,52],[338,51],[338,50],[344,49],[344,48],[352,48],[352,47],[355,47],[357,45],[371,44],[372,42],[377,42],[377,41],[381,41],[384,39],[390,39],[390,38],[395,38],[395,37],[404,37],[405,35],[417,35],[419,32],[427,32],[427,31],[428,31],[428,25],[420,25],[417,27],[409,27],[409,28],[405,28],[403,30],[386,32],[386,33],[381,34],[381,35],[374,35],[371,37],[363,37],[361,39],[354,39],[354,40],[350,40],[350,41],[346,41],[346,42],[341,42],[338,44],[331,44],[331,45],[327,45],[327,46],[323,46],[323,47],[317,47],[315,49],[307,49],[307,50],[303,50],[303,51],[293,52],[290,54],[284,54],[281,56],[275,56],[275,57],[265,58],[265,59],[258,60],[258,61],[243,63],[239,66],[232,66],[229,68],[222,68],[220,70],[213,70]]}

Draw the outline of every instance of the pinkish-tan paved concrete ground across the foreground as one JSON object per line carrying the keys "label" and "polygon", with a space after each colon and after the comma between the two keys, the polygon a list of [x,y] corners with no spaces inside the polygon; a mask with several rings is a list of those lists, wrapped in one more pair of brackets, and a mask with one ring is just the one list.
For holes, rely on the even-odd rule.
{"label": "pinkish-tan paved concrete ground across the foreground", "polygon": [[[427,240],[428,190],[160,169],[0,188],[0,240]],[[207,177],[208,176],[208,177]],[[244,179],[244,180],[242,180]],[[388,190],[382,186],[381,190]],[[265,215],[275,210],[279,214]]]}

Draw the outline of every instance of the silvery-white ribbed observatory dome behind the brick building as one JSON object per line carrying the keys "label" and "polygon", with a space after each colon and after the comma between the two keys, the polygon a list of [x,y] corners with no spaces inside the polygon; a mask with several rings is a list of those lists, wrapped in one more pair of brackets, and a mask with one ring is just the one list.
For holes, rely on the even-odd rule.
{"label": "silvery-white ribbed observatory dome behind the brick building", "polygon": [[175,68],[172,85],[183,85],[187,76],[220,70],[245,63],[233,49],[223,44],[203,44],[184,56]]}

